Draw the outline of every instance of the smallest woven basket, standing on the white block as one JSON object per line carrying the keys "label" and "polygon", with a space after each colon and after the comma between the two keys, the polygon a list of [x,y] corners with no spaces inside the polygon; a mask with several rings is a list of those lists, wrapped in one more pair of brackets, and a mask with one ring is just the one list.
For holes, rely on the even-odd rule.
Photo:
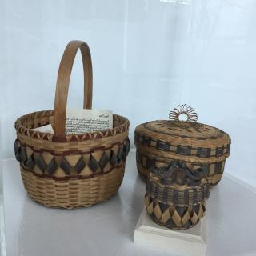
{"label": "smallest woven basket, standing on the white block", "polygon": [[205,214],[208,197],[204,171],[198,170],[194,175],[179,161],[171,162],[167,168],[154,168],[146,182],[147,213],[154,222],[170,229],[196,225]]}

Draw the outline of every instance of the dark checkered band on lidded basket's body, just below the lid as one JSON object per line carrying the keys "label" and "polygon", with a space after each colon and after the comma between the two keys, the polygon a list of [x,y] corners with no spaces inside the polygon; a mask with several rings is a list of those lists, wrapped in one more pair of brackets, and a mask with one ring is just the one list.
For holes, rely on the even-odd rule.
{"label": "dark checkered band on lidded basket's body, just below the lid", "polygon": [[[154,166],[158,166],[158,164],[169,164],[174,159],[166,159],[166,162],[162,162],[158,160],[157,157],[150,158],[144,154],[141,154],[139,150],[136,150],[136,161],[139,162],[142,167],[146,168],[150,171],[150,169]],[[186,161],[185,161],[186,162]],[[224,171],[226,160],[222,162],[214,162],[214,163],[190,163],[191,170],[201,168],[202,170],[206,171],[207,176],[212,176],[215,174],[222,174]]]}

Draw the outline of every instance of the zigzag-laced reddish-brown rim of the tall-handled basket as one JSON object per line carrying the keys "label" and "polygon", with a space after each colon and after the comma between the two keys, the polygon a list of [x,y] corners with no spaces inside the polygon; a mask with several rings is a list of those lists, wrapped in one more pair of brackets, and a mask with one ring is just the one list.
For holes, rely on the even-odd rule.
{"label": "zigzag-laced reddish-brown rim of the tall-handled basket", "polygon": [[130,122],[127,118],[123,117],[122,115],[113,114],[113,118],[118,118],[120,125],[115,126],[114,128],[102,130],[102,131],[94,131],[88,132],[84,134],[66,134],[62,136],[58,136],[55,134],[50,134],[46,132],[32,130],[34,128],[27,128],[23,125],[24,122],[32,120],[34,118],[50,118],[54,116],[54,110],[42,110],[42,111],[35,111],[29,114],[24,114],[19,117],[14,122],[14,128],[18,134],[22,134],[28,137],[42,139],[42,140],[49,140],[52,142],[71,142],[71,141],[84,141],[84,140],[91,140],[91,139],[101,139],[110,136],[114,136],[117,134],[122,134],[129,130]]}

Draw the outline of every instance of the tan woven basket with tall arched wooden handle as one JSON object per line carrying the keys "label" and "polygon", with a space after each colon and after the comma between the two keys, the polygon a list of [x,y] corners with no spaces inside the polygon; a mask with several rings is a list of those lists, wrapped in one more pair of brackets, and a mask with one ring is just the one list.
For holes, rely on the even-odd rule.
{"label": "tan woven basket with tall arched wooden handle", "polygon": [[[45,206],[72,209],[91,206],[113,196],[121,185],[130,150],[129,121],[114,114],[113,129],[65,134],[66,99],[78,49],[82,53],[84,108],[92,103],[92,67],[85,42],[66,46],[58,70],[54,110],[26,114],[15,122],[15,157],[27,193]],[[54,134],[32,129],[51,124]]]}

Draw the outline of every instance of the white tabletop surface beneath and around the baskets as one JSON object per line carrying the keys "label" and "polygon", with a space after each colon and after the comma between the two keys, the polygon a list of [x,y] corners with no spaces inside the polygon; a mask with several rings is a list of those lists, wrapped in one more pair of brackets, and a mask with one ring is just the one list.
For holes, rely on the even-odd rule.
{"label": "white tabletop surface beneath and around the baskets", "polygon": [[[49,209],[25,193],[18,162],[3,162],[6,256],[145,255],[168,250],[134,244],[145,184],[130,152],[118,194],[109,202],[75,210]],[[206,204],[206,255],[256,255],[256,194],[228,176]]]}

